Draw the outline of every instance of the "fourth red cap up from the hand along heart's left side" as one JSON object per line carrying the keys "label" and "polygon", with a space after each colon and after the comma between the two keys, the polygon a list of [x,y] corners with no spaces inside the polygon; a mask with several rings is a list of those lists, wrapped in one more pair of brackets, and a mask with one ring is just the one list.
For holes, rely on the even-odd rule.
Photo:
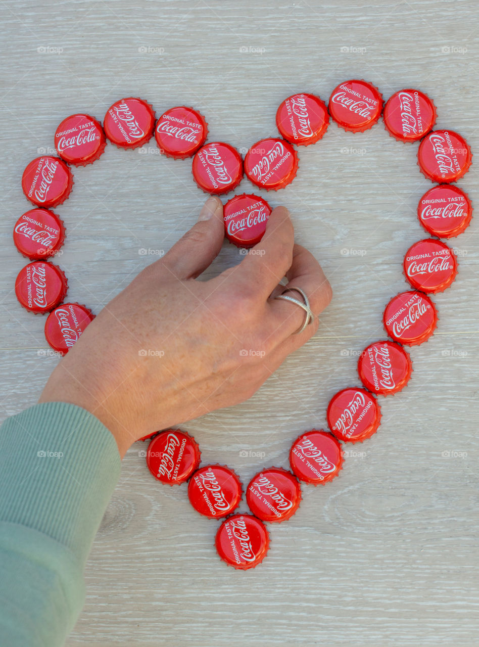
{"label": "fourth red cap up from the hand along heart's left side", "polygon": [[31,203],[45,208],[64,203],[73,186],[72,171],[59,157],[36,157],[27,164],[21,188]]}

